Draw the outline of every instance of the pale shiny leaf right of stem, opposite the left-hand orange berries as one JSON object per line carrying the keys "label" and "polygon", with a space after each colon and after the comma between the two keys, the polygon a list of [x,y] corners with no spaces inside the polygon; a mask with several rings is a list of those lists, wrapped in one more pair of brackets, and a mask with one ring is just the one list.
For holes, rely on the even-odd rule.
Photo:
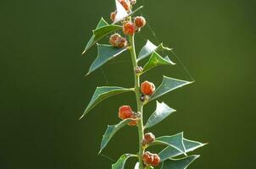
{"label": "pale shiny leaf right of stem, opposite the left-hand orange berries", "polygon": [[160,123],[164,118],[168,117],[171,113],[175,112],[175,109],[170,108],[164,102],[159,103],[157,101],[157,108],[155,112],[148,118],[144,128],[151,128],[157,123]]}

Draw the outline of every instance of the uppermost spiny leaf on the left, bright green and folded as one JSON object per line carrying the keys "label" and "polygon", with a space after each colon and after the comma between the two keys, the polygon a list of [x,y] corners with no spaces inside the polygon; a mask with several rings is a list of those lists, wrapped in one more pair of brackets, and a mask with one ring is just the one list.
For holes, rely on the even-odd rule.
{"label": "uppermost spiny leaf on the left, bright green and folded", "polygon": [[96,30],[92,30],[93,35],[88,41],[86,48],[82,54],[86,53],[86,51],[92,47],[97,41],[101,40],[105,35],[108,35],[109,33],[122,29],[122,26],[120,25],[109,25],[103,18],[99,21],[97,24]]}

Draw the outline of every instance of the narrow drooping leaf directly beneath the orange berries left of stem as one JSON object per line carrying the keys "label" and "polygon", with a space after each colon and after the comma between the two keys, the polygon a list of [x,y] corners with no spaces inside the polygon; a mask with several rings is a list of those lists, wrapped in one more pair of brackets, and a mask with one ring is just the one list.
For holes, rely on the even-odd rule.
{"label": "narrow drooping leaf directly beneath the orange berries left of stem", "polygon": [[118,132],[120,130],[120,128],[125,127],[125,125],[130,123],[131,121],[132,121],[132,119],[128,118],[128,119],[121,121],[118,124],[108,125],[108,128],[107,128],[105,134],[103,135],[103,140],[101,143],[101,148],[100,148],[99,153],[107,146],[107,144],[109,143],[110,139],[112,139],[114,134],[116,132]]}

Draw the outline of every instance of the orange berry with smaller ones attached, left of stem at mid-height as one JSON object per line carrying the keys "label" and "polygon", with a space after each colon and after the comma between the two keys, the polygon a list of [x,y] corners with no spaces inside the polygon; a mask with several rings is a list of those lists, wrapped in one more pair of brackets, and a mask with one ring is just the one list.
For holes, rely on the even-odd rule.
{"label": "orange berry with smaller ones attached, left of stem at mid-height", "polygon": [[130,126],[136,126],[137,121],[136,119],[139,118],[139,113],[132,112],[131,106],[120,106],[119,108],[119,117],[122,120],[125,120],[127,118],[134,119],[130,123],[128,123]]}

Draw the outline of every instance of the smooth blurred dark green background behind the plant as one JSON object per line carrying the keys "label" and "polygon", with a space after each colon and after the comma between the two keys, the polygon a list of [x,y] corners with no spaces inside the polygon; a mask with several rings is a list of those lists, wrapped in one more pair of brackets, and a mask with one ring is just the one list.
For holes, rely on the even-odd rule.
{"label": "smooth blurred dark green background behind the plant", "polygon": [[[184,131],[186,138],[209,142],[195,152],[201,158],[191,169],[256,168],[255,1],[138,0],[140,4],[150,27],[137,35],[137,51],[146,39],[163,41],[196,79],[159,99],[178,112],[151,131],[157,136]],[[93,47],[86,57],[81,52],[101,16],[109,21],[113,10],[113,0],[1,0],[1,168],[110,168],[113,162],[97,155],[102,135],[107,124],[119,122],[119,106],[135,106],[134,95],[111,97],[86,119],[78,118],[96,86],[134,83],[128,53],[84,78],[97,50]],[[155,68],[142,79],[156,85],[162,74],[190,80],[177,63]],[[147,106],[145,116],[154,108],[154,103]],[[116,160],[136,150],[136,128],[127,127],[103,154]]]}

